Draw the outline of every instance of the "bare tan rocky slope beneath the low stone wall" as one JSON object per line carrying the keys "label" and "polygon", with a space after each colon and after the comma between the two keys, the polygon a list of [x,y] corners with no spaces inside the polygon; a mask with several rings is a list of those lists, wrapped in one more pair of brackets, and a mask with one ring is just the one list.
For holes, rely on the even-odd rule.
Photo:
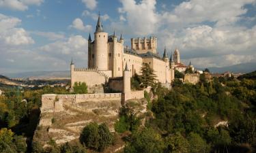
{"label": "bare tan rocky slope beneath the low stone wall", "polygon": [[[49,95],[55,97],[55,95]],[[46,97],[43,97],[46,98]],[[54,99],[55,107],[61,98]],[[44,103],[44,101],[42,101]],[[121,101],[62,101],[61,109],[42,110],[40,124],[35,131],[33,141],[40,142],[44,147],[50,139],[57,145],[79,139],[80,133],[89,122],[105,122],[111,131],[118,118]]]}

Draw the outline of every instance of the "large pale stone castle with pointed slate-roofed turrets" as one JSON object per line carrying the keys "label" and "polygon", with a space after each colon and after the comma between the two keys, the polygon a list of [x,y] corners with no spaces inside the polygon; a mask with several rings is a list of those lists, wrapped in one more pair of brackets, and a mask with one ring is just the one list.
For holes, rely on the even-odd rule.
{"label": "large pale stone castle with pointed slate-roofed turrets", "polygon": [[162,84],[171,84],[175,67],[178,71],[186,68],[180,62],[180,52],[177,49],[170,58],[166,49],[162,57],[158,55],[156,37],[132,38],[131,48],[124,47],[122,35],[117,39],[115,32],[113,35],[106,33],[98,16],[94,40],[91,39],[91,34],[88,39],[88,68],[75,68],[72,62],[71,85],[74,86],[74,82],[85,82],[87,86],[104,84],[110,78],[124,77],[125,71],[129,71],[130,77],[135,73],[140,75],[143,63],[154,69],[156,80]]}

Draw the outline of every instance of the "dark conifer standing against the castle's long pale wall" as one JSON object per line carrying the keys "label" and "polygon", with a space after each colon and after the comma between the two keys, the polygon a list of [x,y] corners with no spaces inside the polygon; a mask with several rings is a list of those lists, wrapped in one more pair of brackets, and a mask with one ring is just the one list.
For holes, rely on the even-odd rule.
{"label": "dark conifer standing against the castle's long pale wall", "polygon": [[156,75],[154,74],[154,70],[150,67],[149,64],[143,63],[139,80],[141,82],[142,88],[147,88],[147,86],[154,86]]}

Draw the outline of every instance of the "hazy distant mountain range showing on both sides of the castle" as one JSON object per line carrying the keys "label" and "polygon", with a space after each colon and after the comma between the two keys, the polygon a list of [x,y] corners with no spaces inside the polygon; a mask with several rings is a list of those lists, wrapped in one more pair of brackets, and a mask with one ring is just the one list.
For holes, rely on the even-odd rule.
{"label": "hazy distant mountain range showing on both sides of the castle", "polygon": [[[212,73],[223,73],[230,71],[232,73],[249,73],[256,70],[256,63],[242,63],[231,65],[229,67],[207,67]],[[198,68],[200,69],[200,68]],[[203,70],[203,68],[201,68]],[[19,73],[4,73],[9,78],[70,78],[70,71],[27,71]]]}

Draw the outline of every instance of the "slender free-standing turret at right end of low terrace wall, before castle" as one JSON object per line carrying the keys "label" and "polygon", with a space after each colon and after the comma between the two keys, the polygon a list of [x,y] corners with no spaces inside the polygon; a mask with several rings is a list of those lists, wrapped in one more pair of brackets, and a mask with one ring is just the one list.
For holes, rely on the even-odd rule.
{"label": "slender free-standing turret at right end of low terrace wall, before castle", "polygon": [[124,99],[130,99],[130,70],[128,69],[128,65],[126,63],[126,68],[124,69]]}

